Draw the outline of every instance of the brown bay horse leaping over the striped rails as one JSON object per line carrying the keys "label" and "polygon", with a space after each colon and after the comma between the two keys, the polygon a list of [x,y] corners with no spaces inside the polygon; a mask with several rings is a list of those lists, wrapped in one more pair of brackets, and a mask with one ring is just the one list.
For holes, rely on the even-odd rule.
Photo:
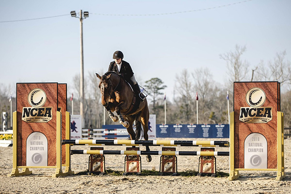
{"label": "brown bay horse leaping over the striped rails", "polygon": [[[100,80],[101,103],[106,108],[109,117],[114,122],[119,120],[127,128],[131,140],[139,140],[141,135],[144,136],[145,140],[148,140],[149,110],[146,99],[141,102],[129,83],[113,71],[102,76],[96,75]],[[113,114],[114,111],[117,113],[117,117]],[[134,121],[135,131],[132,128]],[[142,130],[141,125],[144,130]],[[146,146],[146,151],[149,150],[149,146]],[[147,155],[146,160],[151,162],[151,156]]]}

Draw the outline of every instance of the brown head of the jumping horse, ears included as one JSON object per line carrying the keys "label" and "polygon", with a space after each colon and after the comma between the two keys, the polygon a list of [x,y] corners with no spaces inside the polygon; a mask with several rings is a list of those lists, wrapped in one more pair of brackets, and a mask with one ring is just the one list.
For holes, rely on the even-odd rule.
{"label": "brown head of the jumping horse, ears included", "polygon": [[98,75],[96,74],[97,77],[100,79],[100,83],[99,83],[99,89],[101,91],[101,103],[103,106],[108,106],[109,103],[109,98],[111,97],[112,93],[113,93],[113,85],[112,82],[110,80],[110,76],[111,75]]}

